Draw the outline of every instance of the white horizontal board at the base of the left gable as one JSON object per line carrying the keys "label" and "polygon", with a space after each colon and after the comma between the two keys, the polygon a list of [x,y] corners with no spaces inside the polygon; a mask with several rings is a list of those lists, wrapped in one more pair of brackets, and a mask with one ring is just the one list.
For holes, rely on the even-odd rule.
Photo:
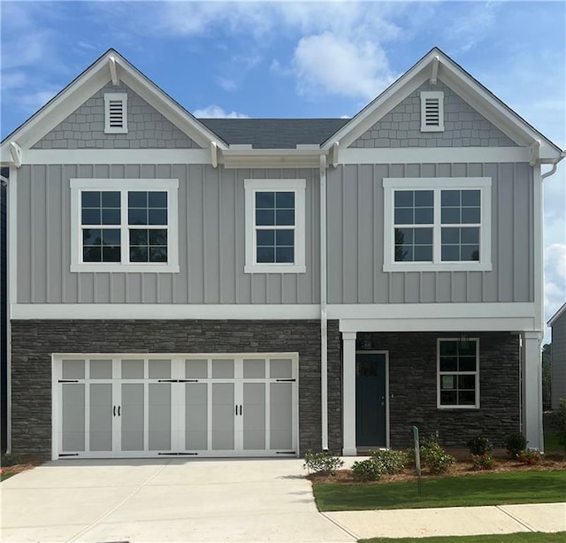
{"label": "white horizontal board at the base of the left gable", "polygon": [[211,164],[210,149],[29,149],[25,164]]}

